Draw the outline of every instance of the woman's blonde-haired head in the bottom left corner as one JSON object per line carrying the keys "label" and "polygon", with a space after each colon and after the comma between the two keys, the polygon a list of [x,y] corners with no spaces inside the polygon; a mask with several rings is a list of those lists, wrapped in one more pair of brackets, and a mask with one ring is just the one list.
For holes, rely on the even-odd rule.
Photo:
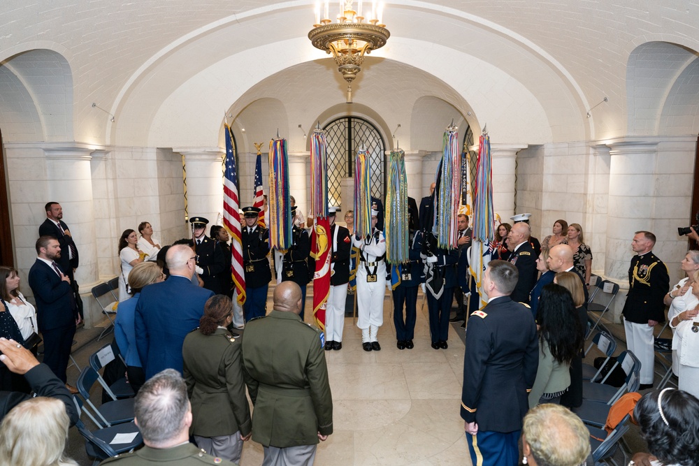
{"label": "woman's blonde-haired head in the bottom left corner", "polygon": [[0,424],[3,466],[67,466],[69,418],[66,405],[55,398],[30,398],[15,406]]}

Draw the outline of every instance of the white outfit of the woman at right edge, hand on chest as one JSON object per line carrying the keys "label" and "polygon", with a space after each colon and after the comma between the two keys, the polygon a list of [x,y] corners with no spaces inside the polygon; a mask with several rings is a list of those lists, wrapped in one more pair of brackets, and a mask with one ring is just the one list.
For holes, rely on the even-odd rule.
{"label": "white outfit of the woman at right edge, hand on chest", "polygon": [[699,397],[699,272],[694,272],[691,293],[685,293],[686,309],[670,317],[675,328],[672,349],[677,351],[677,384]]}

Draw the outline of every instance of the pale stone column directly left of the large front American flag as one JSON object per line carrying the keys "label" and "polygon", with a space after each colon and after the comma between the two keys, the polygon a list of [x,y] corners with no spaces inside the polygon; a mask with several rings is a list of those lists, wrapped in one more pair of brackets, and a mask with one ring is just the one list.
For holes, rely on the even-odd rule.
{"label": "pale stone column directly left of the large front American flag", "polygon": [[223,157],[219,147],[173,148],[185,156],[187,214],[206,217],[209,226],[220,224],[223,212]]}

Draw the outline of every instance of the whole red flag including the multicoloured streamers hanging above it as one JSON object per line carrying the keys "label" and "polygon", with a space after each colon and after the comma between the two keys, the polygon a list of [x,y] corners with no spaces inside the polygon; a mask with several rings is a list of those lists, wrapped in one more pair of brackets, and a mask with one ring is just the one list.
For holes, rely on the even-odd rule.
{"label": "whole red flag including the multicoloured streamers hanging above it", "polygon": [[313,272],[313,318],[325,330],[325,312],[330,296],[330,221],[328,219],[328,159],[325,132],[313,131],[310,145],[310,213],[315,218],[311,235]]}

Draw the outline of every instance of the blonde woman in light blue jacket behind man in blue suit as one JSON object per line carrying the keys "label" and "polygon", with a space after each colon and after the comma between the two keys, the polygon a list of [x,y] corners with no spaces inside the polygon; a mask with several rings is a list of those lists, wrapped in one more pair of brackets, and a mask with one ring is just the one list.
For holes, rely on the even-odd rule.
{"label": "blonde woman in light blue jacket behind man in blue suit", "polygon": [[136,349],[136,328],[134,320],[136,319],[136,303],[140,291],[145,286],[162,282],[165,279],[165,274],[154,262],[142,262],[136,264],[129,273],[129,286],[131,287],[132,298],[129,298],[122,303],[119,303],[119,312],[114,321],[114,338],[117,340],[117,346],[124,361],[127,363],[127,378],[134,393],[138,393],[138,389],[145,383],[145,373],[143,365],[138,357]]}

